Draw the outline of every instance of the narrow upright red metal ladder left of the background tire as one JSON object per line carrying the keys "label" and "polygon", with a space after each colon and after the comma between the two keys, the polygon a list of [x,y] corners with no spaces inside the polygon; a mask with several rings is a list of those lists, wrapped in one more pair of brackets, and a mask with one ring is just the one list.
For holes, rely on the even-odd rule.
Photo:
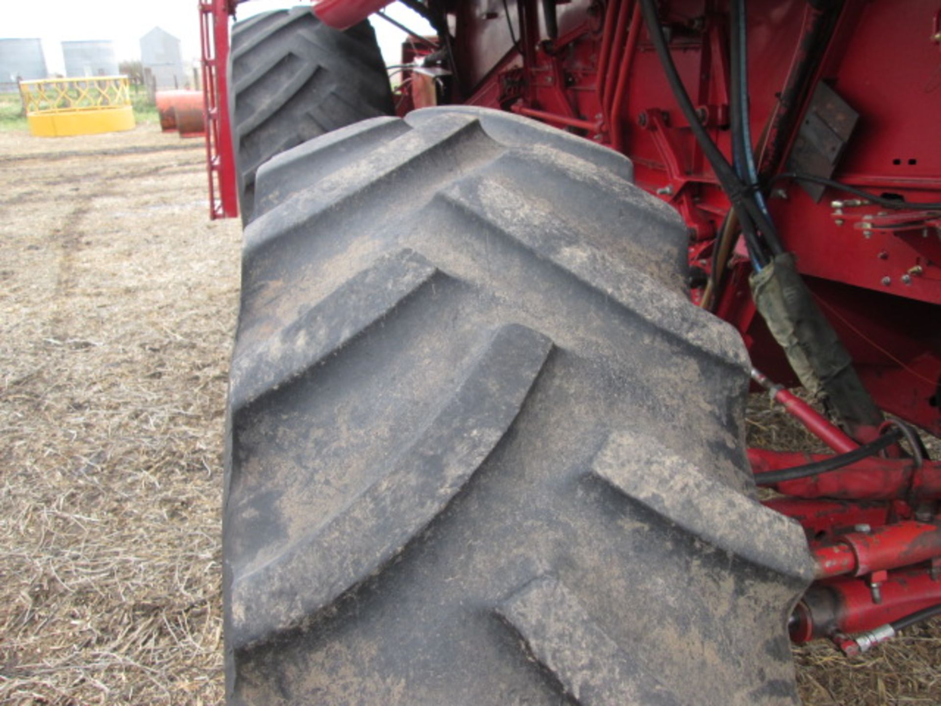
{"label": "narrow upright red metal ladder left of the background tire", "polygon": [[229,120],[230,0],[200,0],[199,40],[202,47],[202,101],[206,116],[206,166],[209,176],[209,217],[238,216],[238,189]]}

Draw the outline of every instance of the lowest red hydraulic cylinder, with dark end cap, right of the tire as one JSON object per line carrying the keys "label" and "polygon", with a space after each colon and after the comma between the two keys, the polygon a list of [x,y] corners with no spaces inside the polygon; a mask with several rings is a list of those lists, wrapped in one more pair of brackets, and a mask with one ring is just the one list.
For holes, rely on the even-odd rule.
{"label": "lowest red hydraulic cylinder, with dark end cap, right of the tire", "polygon": [[814,584],[797,604],[790,639],[806,642],[835,633],[862,633],[941,602],[941,581],[931,570],[890,571],[873,601],[865,579],[839,578]]}

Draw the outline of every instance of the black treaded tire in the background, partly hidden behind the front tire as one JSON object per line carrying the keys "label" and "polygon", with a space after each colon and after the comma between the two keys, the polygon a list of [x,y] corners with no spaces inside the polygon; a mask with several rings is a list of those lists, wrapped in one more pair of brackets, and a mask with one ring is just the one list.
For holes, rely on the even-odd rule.
{"label": "black treaded tire in the background, partly hidden behind the front tire", "polygon": [[311,6],[263,12],[231,31],[230,116],[242,222],[255,172],[275,154],[359,120],[392,115],[386,65],[368,22],[340,32]]}

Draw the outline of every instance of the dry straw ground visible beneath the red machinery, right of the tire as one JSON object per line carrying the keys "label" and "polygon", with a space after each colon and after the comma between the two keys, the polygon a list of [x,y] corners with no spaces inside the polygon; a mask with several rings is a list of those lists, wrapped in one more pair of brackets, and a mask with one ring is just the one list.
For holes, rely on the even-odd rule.
{"label": "dry straw ground visible beneath the red machinery, right of the tire", "polygon": [[[933,458],[941,457],[941,441],[925,434],[922,439]],[[765,393],[751,397],[748,444],[782,451],[828,451]],[[826,640],[791,651],[807,706],[941,704],[941,620],[908,628],[853,659]]]}

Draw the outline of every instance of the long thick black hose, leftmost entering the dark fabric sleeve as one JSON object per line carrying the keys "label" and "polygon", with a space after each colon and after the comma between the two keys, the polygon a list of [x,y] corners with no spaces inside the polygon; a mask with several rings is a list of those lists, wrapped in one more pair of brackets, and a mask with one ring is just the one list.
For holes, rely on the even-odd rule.
{"label": "long thick black hose, leftmost entering the dark fabric sleeve", "polygon": [[[696,142],[699,143],[700,148],[710,162],[712,170],[715,172],[716,179],[719,180],[719,183],[726,191],[728,200],[732,202],[732,206],[739,215],[742,233],[745,234],[745,240],[749,244],[749,248],[757,248],[758,236],[755,233],[755,227],[758,227],[759,231],[771,233],[774,232],[774,226],[768,223],[767,218],[760,212],[755,202],[747,198],[748,187],[742,184],[735,170],[728,164],[726,157],[720,152],[715,142],[706,132],[706,128],[699,121],[699,116],[696,115],[693,103],[690,101],[686,88],[679,78],[673,57],[670,56],[670,49],[663,37],[655,0],[640,0],[640,3],[641,10],[644,13],[647,33],[650,35],[650,40],[653,41],[663,72],[666,74],[667,83],[670,84],[673,95],[679,104],[679,109],[686,121],[689,122]],[[759,266],[767,264],[768,258],[760,248],[754,253],[754,256],[758,260]]]}

